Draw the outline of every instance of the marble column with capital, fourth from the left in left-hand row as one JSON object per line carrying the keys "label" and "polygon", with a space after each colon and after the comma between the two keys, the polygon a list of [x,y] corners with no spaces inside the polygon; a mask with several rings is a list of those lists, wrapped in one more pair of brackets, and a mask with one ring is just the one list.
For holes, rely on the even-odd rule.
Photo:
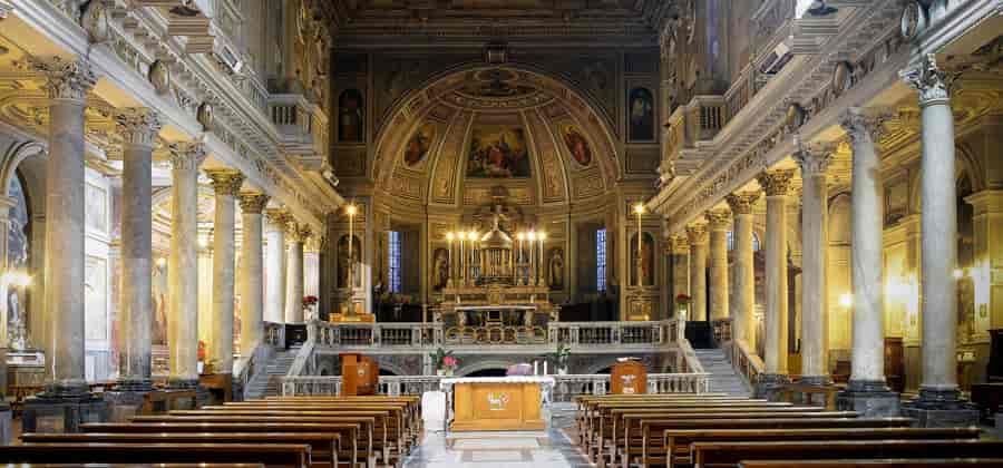
{"label": "marble column with capital, fourth from the left in left-hand row", "polygon": [[233,373],[234,203],[243,174],[230,169],[206,170],[216,193],[213,220],[213,335],[208,343],[214,373]]}

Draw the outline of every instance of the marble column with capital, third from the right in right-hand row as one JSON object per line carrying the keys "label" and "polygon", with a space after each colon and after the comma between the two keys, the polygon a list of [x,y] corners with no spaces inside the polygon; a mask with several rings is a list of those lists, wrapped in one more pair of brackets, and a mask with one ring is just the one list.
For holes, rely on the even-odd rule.
{"label": "marble column with capital, third from the right in right-hand row", "polygon": [[826,362],[826,235],[828,186],[826,170],[835,145],[802,145],[795,153],[801,169],[801,382],[827,384]]}

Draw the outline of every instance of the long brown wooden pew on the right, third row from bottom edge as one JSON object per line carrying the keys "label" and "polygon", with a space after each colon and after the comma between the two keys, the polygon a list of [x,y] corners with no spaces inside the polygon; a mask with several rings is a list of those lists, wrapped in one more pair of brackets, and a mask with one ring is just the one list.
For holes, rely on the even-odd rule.
{"label": "long brown wooden pew on the right, third row from bottom edge", "polygon": [[[820,428],[665,430],[665,458],[649,455],[650,465],[690,465],[690,445],[722,441],[977,439],[978,428]],[[666,462],[671,460],[671,462]]]}

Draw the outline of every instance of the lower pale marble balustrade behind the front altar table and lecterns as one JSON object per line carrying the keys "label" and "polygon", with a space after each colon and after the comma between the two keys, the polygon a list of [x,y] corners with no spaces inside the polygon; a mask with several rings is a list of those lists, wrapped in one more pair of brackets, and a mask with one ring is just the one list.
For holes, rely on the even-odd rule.
{"label": "lower pale marble balustrade behind the front altar table and lecterns", "polygon": [[[647,393],[705,393],[710,391],[708,373],[650,373]],[[554,401],[572,401],[580,394],[606,394],[610,391],[608,374],[551,376],[556,381]],[[421,394],[439,389],[440,376],[380,376],[379,392],[389,396]],[[334,396],[341,394],[339,376],[296,376],[282,378],[282,394]]]}

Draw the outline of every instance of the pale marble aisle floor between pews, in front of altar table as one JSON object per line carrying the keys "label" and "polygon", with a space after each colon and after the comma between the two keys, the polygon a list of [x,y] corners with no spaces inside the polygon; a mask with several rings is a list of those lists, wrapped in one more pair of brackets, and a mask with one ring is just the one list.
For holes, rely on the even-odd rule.
{"label": "pale marble aisle floor between pews, in front of altar table", "polygon": [[592,465],[562,429],[573,411],[554,411],[551,429],[534,432],[427,432],[405,468],[584,468]]}

